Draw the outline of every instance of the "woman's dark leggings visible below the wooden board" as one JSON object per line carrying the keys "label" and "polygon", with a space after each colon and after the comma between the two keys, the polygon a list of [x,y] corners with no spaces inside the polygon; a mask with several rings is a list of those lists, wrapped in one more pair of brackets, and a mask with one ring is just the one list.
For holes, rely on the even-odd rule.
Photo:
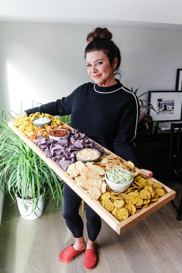
{"label": "woman's dark leggings visible below the wooden board", "polygon": [[[83,236],[83,221],[79,215],[81,201],[78,194],[64,183],[62,216],[75,238]],[[101,229],[101,219],[88,205],[86,205],[86,227],[90,241],[95,241]]]}

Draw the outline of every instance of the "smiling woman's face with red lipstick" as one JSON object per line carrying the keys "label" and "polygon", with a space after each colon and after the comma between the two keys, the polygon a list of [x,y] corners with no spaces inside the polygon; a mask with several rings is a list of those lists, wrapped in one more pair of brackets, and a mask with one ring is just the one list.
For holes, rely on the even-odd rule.
{"label": "smiling woman's face with red lipstick", "polygon": [[90,78],[99,86],[116,84],[113,69],[117,66],[117,58],[114,58],[113,66],[111,66],[103,51],[92,51],[86,54],[86,66]]}

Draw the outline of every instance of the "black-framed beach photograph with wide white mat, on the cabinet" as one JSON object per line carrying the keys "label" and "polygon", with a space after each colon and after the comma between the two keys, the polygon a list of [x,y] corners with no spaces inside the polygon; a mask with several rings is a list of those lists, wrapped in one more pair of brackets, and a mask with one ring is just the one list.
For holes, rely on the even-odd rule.
{"label": "black-framed beach photograph with wide white mat, on the cabinet", "polygon": [[149,115],[158,121],[179,121],[182,119],[181,91],[149,91],[148,101],[153,105]]}

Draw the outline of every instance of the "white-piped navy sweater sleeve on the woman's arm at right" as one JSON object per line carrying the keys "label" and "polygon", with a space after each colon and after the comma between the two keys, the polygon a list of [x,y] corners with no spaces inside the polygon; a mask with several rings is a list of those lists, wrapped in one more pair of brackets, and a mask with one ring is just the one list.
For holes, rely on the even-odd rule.
{"label": "white-piped navy sweater sleeve on the woman's arm at right", "polygon": [[139,116],[140,106],[137,97],[133,95],[122,110],[119,130],[116,138],[113,140],[113,149],[118,156],[126,161],[132,161],[137,168],[141,169],[142,167],[138,162],[133,149],[135,146],[133,140],[136,136],[136,127]]}

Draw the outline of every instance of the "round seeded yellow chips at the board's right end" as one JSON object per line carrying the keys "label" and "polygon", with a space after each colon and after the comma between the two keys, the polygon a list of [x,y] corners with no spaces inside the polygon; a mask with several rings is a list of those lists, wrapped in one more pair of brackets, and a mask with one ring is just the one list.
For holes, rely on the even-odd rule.
{"label": "round seeded yellow chips at the board's right end", "polygon": [[112,191],[108,185],[106,188],[108,192],[97,201],[120,222],[166,194],[160,183],[153,182],[142,173],[134,177],[132,186],[126,190]]}

